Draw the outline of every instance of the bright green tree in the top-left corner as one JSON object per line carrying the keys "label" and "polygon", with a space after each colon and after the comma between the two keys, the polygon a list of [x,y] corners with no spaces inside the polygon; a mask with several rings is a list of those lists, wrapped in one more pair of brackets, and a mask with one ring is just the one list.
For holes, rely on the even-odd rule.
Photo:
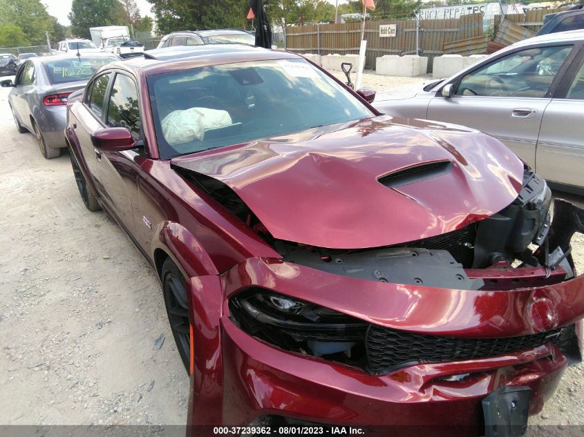
{"label": "bright green tree in the top-left corner", "polygon": [[[20,28],[23,40],[34,46],[46,44],[45,32],[52,34],[54,31],[53,21],[40,0],[0,0],[0,23]],[[12,47],[19,45],[15,42],[10,44]]]}

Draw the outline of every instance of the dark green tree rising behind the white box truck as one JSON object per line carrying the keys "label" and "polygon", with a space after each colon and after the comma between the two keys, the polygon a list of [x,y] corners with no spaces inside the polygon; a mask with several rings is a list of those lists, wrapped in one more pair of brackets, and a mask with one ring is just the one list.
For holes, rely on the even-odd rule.
{"label": "dark green tree rising behind the white box truck", "polygon": [[89,37],[89,28],[128,24],[122,15],[118,0],[73,0],[69,20],[71,32],[78,37]]}

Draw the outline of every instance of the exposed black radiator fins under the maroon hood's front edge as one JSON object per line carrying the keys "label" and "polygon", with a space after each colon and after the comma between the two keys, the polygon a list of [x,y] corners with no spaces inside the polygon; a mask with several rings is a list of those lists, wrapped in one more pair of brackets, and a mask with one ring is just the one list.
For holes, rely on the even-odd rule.
{"label": "exposed black radiator fins under the maroon hood's front edge", "polygon": [[452,258],[460,262],[464,267],[469,268],[473,265],[475,237],[476,225],[470,224],[457,231],[424,238],[424,240],[408,242],[407,244],[400,244],[400,246],[449,251]]}

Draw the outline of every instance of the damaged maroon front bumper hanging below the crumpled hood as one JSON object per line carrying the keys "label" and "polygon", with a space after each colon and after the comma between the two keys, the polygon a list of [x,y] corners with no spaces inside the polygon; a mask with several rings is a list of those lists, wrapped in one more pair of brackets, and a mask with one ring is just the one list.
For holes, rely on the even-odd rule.
{"label": "damaged maroon front bumper hanging below the crumpled hood", "polygon": [[[432,427],[434,436],[482,435],[482,401],[502,387],[529,387],[529,414],[537,413],[569,360],[581,359],[584,276],[572,276],[569,240],[584,233],[583,223],[582,209],[556,201],[549,247],[537,254],[542,266],[466,269],[468,278],[482,280],[480,289],[348,278],[261,258],[220,277],[191,278],[197,353],[189,425],[202,428],[190,432],[213,435],[214,425],[245,427],[269,417],[379,435],[420,435],[420,427]],[[552,258],[556,248],[562,255]],[[364,356],[343,362],[339,350],[308,349],[305,344],[319,338],[314,331],[297,349],[274,344],[277,336],[261,331],[273,314],[246,324],[234,313],[241,311],[234,299],[250,290],[283,298],[276,303],[290,311],[296,310],[286,298],[310,302],[310,314],[326,309],[327,317],[359,321],[350,328],[365,326]],[[216,311],[209,311],[209,302]],[[283,330],[296,341],[306,326]],[[354,340],[332,338],[356,351]]]}

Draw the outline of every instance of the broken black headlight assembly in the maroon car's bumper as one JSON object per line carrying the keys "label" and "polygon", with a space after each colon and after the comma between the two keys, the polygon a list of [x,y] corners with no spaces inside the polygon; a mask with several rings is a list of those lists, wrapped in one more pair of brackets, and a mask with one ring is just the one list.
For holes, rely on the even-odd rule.
{"label": "broken black headlight assembly in the maroon car's bumper", "polygon": [[243,331],[287,351],[364,367],[368,323],[338,311],[252,288],[229,300]]}

